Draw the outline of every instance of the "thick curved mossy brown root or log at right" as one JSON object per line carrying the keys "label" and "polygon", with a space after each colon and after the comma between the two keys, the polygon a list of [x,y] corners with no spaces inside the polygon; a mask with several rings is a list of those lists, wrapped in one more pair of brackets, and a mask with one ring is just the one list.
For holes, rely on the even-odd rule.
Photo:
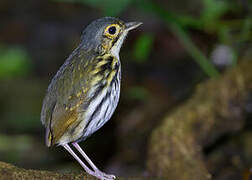
{"label": "thick curved mossy brown root or log at right", "polygon": [[153,132],[147,167],[167,179],[211,179],[203,148],[244,125],[245,102],[252,91],[252,61],[242,61],[218,79],[198,86],[192,97]]}

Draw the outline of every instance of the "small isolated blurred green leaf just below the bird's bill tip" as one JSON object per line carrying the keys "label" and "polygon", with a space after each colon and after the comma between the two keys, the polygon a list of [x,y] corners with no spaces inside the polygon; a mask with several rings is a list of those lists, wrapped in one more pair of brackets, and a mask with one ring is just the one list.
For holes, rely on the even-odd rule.
{"label": "small isolated blurred green leaf just below the bird's bill tip", "polygon": [[152,34],[143,33],[135,42],[134,59],[138,63],[143,63],[148,59],[151,53],[154,36]]}

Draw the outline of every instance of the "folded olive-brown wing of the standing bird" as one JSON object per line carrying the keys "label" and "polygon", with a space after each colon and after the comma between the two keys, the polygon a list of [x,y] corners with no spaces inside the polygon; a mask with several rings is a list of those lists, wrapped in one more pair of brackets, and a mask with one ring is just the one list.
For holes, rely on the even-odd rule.
{"label": "folded olive-brown wing of the standing bird", "polygon": [[86,54],[74,51],[48,87],[41,112],[48,146],[57,143],[66,130],[77,123],[77,108],[85,101],[89,86],[90,66],[86,58]]}

